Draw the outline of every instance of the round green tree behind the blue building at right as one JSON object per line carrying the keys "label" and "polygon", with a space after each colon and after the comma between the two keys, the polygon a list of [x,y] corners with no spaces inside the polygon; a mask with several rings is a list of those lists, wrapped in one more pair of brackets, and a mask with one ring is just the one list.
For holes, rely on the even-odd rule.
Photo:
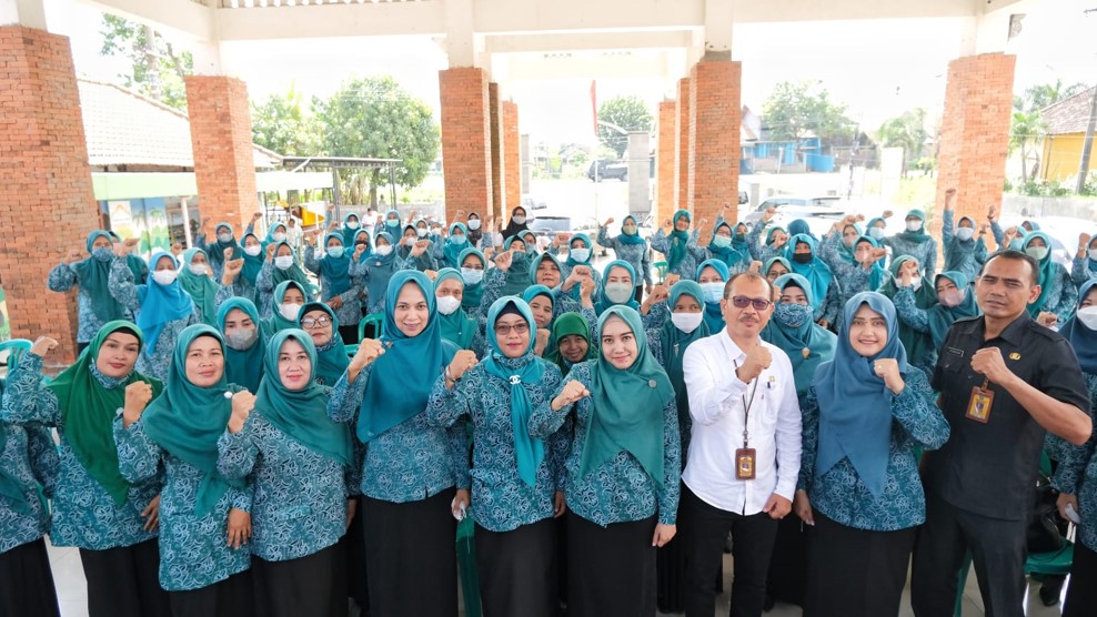
{"label": "round green tree behind the blue building at right", "polygon": [[819,83],[783,81],[762,105],[763,123],[775,141],[819,138],[824,145],[848,142],[856,123],[846,105],[831,101]]}

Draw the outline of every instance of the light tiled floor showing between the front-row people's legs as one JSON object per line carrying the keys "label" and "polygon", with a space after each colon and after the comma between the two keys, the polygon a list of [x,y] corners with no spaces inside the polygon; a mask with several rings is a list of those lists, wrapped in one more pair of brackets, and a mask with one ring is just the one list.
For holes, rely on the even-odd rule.
{"label": "light tiled floor showing between the front-row people's legs", "polygon": [[[48,543],[47,543],[48,544]],[[50,547],[50,564],[53,567],[53,580],[57,584],[58,599],[61,603],[62,617],[87,617],[88,616],[88,590],[84,585],[83,568],[80,566],[80,554],[76,548]],[[732,588],[732,558],[724,556],[724,589]],[[1029,617],[1051,617],[1059,615],[1059,606],[1045,607],[1039,601],[1037,591],[1039,584],[1029,585],[1029,601],[1026,615]],[[913,615],[910,610],[907,591],[904,591],[903,608],[900,617]],[[727,615],[728,597],[726,594],[717,599],[716,614]],[[801,609],[797,606],[778,604],[773,610],[766,614],[767,617],[799,617]],[[983,617],[983,600],[979,597],[979,588],[975,581],[975,574],[968,577],[967,586],[964,589],[964,617]]]}

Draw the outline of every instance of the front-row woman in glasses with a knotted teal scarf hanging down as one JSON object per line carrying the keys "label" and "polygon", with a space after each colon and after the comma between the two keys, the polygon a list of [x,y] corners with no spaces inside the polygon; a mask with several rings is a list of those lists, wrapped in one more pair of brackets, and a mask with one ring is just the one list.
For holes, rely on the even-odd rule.
{"label": "front-row woman in glasses with a knotted teal scarf hanging down", "polygon": [[530,435],[530,416],[560,385],[560,371],[533,353],[533,313],[514,296],[487,311],[489,351],[457,381],[435,386],[432,424],[472,424],[472,517],[485,615],[556,614],[555,525],[564,513],[555,478],[567,435]]}

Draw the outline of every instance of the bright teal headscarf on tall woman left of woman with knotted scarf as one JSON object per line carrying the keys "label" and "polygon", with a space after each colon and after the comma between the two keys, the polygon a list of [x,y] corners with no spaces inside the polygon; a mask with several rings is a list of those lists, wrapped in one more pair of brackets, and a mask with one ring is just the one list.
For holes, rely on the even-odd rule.
{"label": "bright teal headscarf on tall woman left of woman with knotted scarf", "polygon": [[[415,336],[396,326],[396,300],[404,285],[415,285],[426,300],[426,325]],[[381,343],[385,353],[373,361],[359,414],[358,436],[364,443],[402,424],[426,409],[434,381],[457,347],[442,338],[434,285],[425,274],[401,270],[389,280],[385,292],[384,325]]]}

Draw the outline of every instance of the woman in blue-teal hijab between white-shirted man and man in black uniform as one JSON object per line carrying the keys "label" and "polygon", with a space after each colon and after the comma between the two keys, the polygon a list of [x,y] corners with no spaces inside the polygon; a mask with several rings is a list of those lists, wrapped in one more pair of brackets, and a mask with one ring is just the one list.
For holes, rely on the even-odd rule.
{"label": "woman in blue-teal hijab between white-shirted man and man in black uniform", "polygon": [[803,409],[794,512],[812,525],[805,614],[899,611],[926,516],[916,448],[940,447],[949,427],[928,377],[907,364],[896,321],[883,295],[852,297]]}

